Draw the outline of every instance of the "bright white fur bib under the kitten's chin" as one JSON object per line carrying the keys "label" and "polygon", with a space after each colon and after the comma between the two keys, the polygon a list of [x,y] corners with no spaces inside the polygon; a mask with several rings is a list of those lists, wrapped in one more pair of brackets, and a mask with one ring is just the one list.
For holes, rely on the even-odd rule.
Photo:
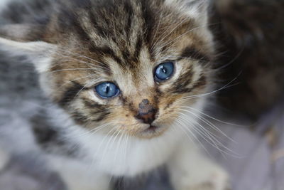
{"label": "bright white fur bib under the kitten's chin", "polygon": [[[192,107],[199,109],[202,105],[200,100],[198,105]],[[99,132],[87,132],[72,123],[69,116],[60,110],[54,111],[53,115],[58,118],[55,122],[68,132],[66,138],[84,151],[81,161],[89,166],[89,170],[113,176],[136,176],[165,164],[185,137],[185,132],[178,130],[177,126],[170,127],[162,136],[153,139],[138,139],[123,134],[110,137]],[[191,115],[183,117],[196,122]]]}

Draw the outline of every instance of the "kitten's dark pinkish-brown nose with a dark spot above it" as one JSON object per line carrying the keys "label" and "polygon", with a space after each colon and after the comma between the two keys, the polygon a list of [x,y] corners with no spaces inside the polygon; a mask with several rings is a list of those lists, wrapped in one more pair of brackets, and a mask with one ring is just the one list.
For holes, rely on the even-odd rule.
{"label": "kitten's dark pinkish-brown nose with a dark spot above it", "polygon": [[157,110],[150,104],[149,100],[144,99],[139,104],[136,119],[141,120],[143,123],[151,124],[155,120],[156,113]]}

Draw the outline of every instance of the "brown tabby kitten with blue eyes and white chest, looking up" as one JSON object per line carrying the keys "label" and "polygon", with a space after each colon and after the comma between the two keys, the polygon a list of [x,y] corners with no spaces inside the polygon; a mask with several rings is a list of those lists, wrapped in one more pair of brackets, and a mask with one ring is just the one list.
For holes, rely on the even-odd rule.
{"label": "brown tabby kitten with blue eyes and white chest, looking up", "polygon": [[163,164],[176,190],[228,187],[187,137],[214,87],[208,5],[46,0],[3,12],[1,50],[26,56],[53,102],[33,134],[69,189],[111,189],[111,176]]}

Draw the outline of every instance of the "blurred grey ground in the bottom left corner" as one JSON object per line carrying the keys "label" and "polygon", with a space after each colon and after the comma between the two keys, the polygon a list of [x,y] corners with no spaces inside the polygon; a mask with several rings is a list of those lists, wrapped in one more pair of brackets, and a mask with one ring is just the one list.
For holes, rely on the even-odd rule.
{"label": "blurred grey ground in the bottom left corner", "polygon": [[35,157],[17,155],[10,159],[6,167],[0,172],[1,190],[65,190],[65,184],[60,176],[47,171]]}

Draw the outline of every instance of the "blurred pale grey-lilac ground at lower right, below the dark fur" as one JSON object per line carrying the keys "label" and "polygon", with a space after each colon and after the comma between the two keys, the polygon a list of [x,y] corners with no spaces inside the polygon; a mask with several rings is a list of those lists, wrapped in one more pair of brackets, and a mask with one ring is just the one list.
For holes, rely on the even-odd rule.
{"label": "blurred pale grey-lilac ground at lower right, below the dark fur", "polygon": [[236,141],[226,141],[227,147],[240,155],[225,159],[215,154],[215,159],[231,174],[233,189],[284,189],[283,107],[283,104],[277,105],[249,128],[219,125]]}

